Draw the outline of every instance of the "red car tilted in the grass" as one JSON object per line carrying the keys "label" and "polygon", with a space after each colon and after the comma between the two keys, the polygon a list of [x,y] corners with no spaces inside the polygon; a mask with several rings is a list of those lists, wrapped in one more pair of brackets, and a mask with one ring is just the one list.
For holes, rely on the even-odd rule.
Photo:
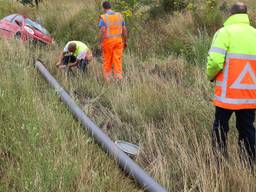
{"label": "red car tilted in the grass", "polygon": [[46,45],[53,43],[53,38],[42,25],[19,14],[12,14],[0,20],[0,36]]}

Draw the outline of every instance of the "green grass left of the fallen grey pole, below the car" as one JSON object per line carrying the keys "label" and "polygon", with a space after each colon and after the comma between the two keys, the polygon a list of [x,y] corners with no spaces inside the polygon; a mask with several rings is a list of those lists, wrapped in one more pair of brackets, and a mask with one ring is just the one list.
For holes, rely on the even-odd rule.
{"label": "green grass left of the fallen grey pole, below the car", "polygon": [[29,49],[0,49],[0,191],[139,191],[59,102]]}

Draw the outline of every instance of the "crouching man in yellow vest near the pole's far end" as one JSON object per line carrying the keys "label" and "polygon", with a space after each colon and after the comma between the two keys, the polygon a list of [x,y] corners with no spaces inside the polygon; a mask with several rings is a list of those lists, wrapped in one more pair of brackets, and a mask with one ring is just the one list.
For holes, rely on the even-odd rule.
{"label": "crouching man in yellow vest near the pole's far end", "polygon": [[83,42],[69,41],[60,55],[57,66],[68,70],[77,67],[82,72],[86,72],[91,60],[92,52]]}

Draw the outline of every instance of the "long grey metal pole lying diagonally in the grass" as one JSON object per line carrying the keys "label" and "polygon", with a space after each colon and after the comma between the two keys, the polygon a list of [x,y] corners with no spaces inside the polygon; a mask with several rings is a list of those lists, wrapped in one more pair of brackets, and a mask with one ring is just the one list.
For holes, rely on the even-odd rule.
{"label": "long grey metal pole lying diagonally in the grass", "polygon": [[74,116],[81,122],[84,128],[90,132],[92,137],[102,146],[104,151],[112,155],[120,167],[131,175],[143,189],[149,192],[166,192],[160,184],[150,177],[138,164],[136,164],[128,155],[121,151],[116,144],[89,119],[78,107],[74,100],[61,87],[58,81],[49,73],[45,66],[40,62],[35,62],[36,68],[41,72],[44,78],[55,89],[61,100],[69,107]]}

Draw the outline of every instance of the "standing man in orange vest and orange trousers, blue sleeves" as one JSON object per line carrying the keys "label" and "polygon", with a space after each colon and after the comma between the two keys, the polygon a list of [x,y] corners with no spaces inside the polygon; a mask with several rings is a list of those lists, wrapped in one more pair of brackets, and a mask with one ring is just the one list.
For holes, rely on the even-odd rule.
{"label": "standing man in orange vest and orange trousers, blue sleeves", "polygon": [[123,78],[122,56],[127,46],[127,28],[121,13],[111,10],[108,1],[102,4],[104,13],[99,22],[99,48],[103,53],[103,75],[109,81],[112,76],[121,80]]}

